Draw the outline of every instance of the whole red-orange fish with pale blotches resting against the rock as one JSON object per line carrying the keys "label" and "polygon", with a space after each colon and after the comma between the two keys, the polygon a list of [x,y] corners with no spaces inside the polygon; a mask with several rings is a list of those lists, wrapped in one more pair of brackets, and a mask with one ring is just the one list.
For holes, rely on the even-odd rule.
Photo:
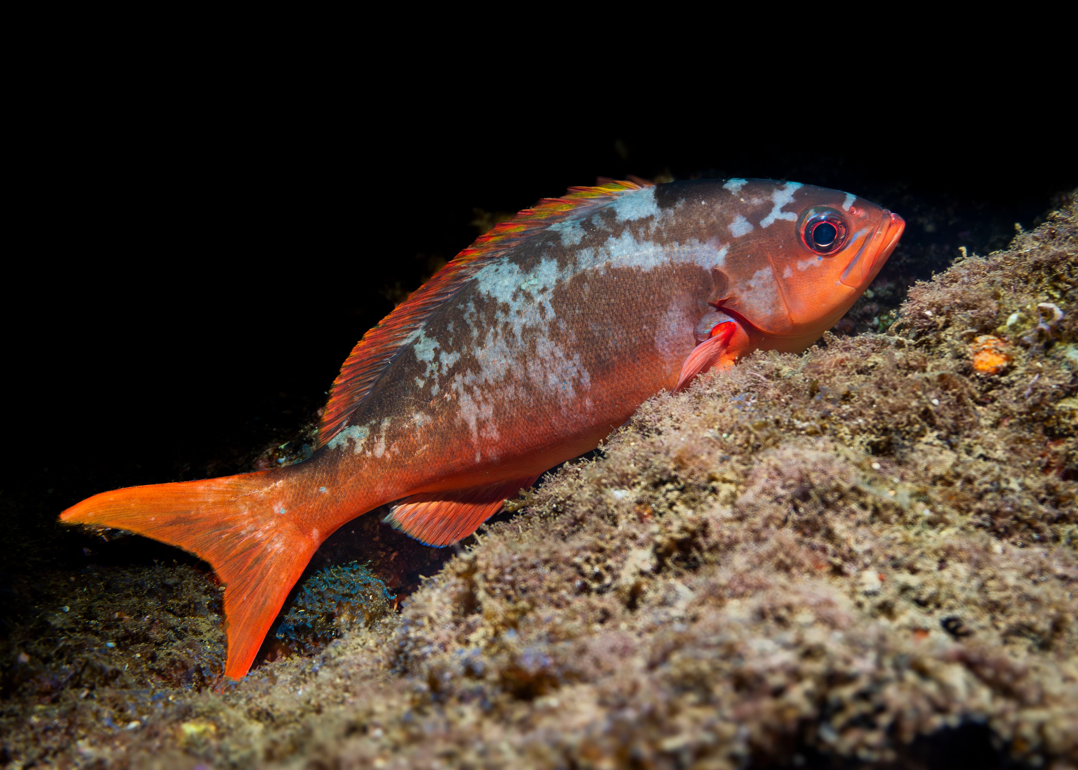
{"label": "whole red-orange fish with pale blotches resting against the rock", "polygon": [[605,182],[475,240],[356,345],[287,468],[105,492],[60,519],[146,535],[225,583],[225,675],[250,668],[338,526],[387,520],[445,546],[648,397],[838,321],[904,223],[852,194],[731,179]]}

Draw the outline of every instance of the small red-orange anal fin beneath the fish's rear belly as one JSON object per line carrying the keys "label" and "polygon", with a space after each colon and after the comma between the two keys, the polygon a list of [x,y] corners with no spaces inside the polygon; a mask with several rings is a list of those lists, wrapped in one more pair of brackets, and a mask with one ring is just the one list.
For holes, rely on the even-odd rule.
{"label": "small red-orange anal fin beneath the fish's rear belly", "polygon": [[448,546],[475,532],[480,524],[501,510],[507,497],[531,486],[538,478],[412,495],[393,506],[385,520],[426,546]]}

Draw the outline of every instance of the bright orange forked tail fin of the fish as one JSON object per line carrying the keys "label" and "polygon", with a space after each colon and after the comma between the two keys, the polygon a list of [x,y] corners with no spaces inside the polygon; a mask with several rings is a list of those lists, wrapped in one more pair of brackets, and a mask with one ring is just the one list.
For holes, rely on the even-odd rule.
{"label": "bright orange forked tail fin of the fish", "polygon": [[247,674],[292,586],[330,534],[306,530],[288,470],[129,486],[68,508],[60,520],[126,530],[178,546],[225,585],[225,676]]}

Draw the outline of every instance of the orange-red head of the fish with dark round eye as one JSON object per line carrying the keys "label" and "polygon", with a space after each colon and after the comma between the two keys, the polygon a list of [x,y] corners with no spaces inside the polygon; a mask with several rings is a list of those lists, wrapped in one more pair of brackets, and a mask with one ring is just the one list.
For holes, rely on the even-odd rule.
{"label": "orange-red head of the fish with dark round eye", "polygon": [[711,304],[765,335],[789,340],[779,345],[784,349],[807,346],[872,283],[906,222],[838,190],[736,181],[735,200],[723,207],[731,212],[719,281],[725,295]]}

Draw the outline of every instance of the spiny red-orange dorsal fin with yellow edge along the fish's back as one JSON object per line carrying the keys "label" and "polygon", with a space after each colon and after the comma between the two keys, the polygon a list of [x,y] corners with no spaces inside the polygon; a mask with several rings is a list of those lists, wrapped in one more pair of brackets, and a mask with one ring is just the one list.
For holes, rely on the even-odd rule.
{"label": "spiny red-orange dorsal fin with yellow edge along the fish's back", "polygon": [[562,197],[543,198],[475,238],[471,246],[458,253],[356,343],[341,367],[341,373],[333,381],[330,400],[318,426],[318,445],[324,445],[348,425],[348,420],[389,367],[404,340],[421,327],[483,264],[555,222],[579,216],[582,210],[596,208],[618,195],[642,187],[645,185],[636,182],[608,181],[596,187],[569,188]]}

